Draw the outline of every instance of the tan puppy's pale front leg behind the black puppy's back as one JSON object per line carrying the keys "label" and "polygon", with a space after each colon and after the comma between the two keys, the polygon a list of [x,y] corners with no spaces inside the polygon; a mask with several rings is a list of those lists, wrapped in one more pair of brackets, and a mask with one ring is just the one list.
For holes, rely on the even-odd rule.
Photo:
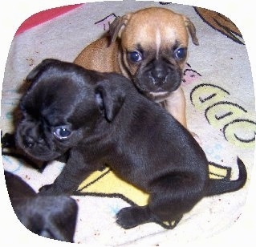
{"label": "tan puppy's pale front leg behind the black puppy's back", "polygon": [[[179,121],[185,128],[187,127],[186,120],[186,102],[185,94],[181,87],[173,91],[167,99],[165,99],[165,108],[177,121]],[[200,138],[194,132],[190,132],[198,144],[201,144]]]}

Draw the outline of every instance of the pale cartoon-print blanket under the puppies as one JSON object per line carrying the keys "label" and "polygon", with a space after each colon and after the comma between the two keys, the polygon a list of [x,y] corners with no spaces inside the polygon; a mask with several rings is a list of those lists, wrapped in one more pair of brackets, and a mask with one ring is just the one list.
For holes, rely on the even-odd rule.
{"label": "pale cartoon-print blanket under the puppies", "polygon": [[[91,174],[74,198],[79,204],[75,242],[87,245],[157,245],[188,243],[219,233],[238,220],[250,185],[254,161],[254,88],[246,44],[229,18],[193,6],[163,2],[95,2],[35,14],[17,30],[6,61],[2,85],[2,134],[12,132],[12,111],[18,88],[29,71],[46,58],[72,62],[83,47],[108,30],[116,16],[148,6],[161,6],[188,16],[197,28],[200,46],[189,43],[182,82],[189,129],[201,139],[212,179],[236,179],[237,156],[246,164],[248,182],[238,192],[212,196],[187,213],[176,227],[149,223],[121,229],[116,213],[129,204],[146,204],[148,195],[120,180],[108,168]],[[52,162],[43,172],[12,156],[2,156],[6,170],[21,176],[37,191],[63,168]],[[195,226],[197,231],[194,231]]]}

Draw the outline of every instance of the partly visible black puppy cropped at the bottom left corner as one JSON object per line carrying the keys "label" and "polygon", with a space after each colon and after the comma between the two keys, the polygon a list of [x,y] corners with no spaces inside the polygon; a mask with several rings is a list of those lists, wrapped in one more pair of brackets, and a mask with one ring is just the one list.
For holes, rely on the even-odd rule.
{"label": "partly visible black puppy cropped at the bottom left corner", "polygon": [[18,220],[32,233],[73,242],[78,206],[68,196],[38,196],[20,177],[5,172],[10,202]]}

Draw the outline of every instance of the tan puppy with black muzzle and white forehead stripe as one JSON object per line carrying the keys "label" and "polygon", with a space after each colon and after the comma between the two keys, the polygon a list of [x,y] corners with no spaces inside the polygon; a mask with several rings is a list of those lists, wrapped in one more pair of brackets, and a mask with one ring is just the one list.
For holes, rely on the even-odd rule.
{"label": "tan puppy with black muzzle and white forehead stripe", "polygon": [[75,59],[87,69],[120,73],[149,99],[161,103],[187,128],[181,80],[189,34],[198,45],[196,29],[184,15],[152,7],[116,18],[109,35]]}

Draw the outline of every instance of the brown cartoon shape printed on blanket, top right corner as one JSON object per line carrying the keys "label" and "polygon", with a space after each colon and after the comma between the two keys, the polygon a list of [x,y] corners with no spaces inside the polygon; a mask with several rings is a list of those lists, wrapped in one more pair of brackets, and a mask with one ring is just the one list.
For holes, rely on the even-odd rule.
{"label": "brown cartoon shape printed on blanket, top right corner", "polygon": [[197,14],[213,29],[218,30],[221,34],[231,38],[234,42],[244,45],[242,41],[242,34],[234,22],[223,14],[219,14],[213,10],[207,10],[200,7],[194,7]]}

